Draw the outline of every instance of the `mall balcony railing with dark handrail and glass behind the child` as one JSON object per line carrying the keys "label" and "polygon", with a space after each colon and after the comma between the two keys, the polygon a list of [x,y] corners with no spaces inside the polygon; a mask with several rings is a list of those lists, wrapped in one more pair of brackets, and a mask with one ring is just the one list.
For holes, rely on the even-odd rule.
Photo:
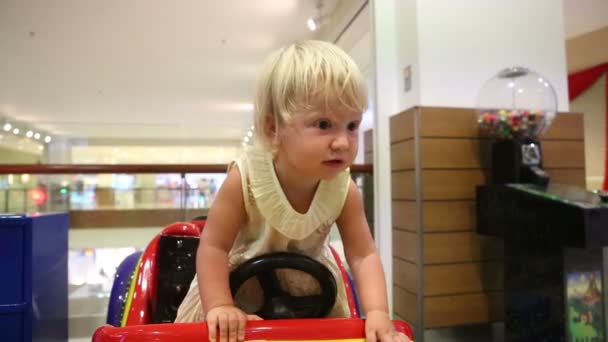
{"label": "mall balcony railing with dark handrail and glass behind the child", "polygon": [[[371,165],[353,165],[373,222]],[[204,215],[227,165],[0,165],[0,212],[71,213],[72,228],[149,227]]]}

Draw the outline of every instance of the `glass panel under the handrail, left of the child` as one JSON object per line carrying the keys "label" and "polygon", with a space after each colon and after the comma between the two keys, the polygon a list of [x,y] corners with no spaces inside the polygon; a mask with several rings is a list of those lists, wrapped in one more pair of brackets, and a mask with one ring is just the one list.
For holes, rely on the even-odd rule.
{"label": "glass panel under the handrail, left of the child", "polygon": [[0,212],[208,209],[226,173],[0,175]]}

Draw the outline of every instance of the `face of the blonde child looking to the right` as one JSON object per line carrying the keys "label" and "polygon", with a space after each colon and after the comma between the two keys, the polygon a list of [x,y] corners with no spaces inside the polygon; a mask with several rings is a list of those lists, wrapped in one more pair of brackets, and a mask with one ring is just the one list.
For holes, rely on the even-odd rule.
{"label": "face of the blonde child looking to the right", "polygon": [[279,127],[276,158],[294,175],[331,179],[357,155],[361,117],[344,106],[296,112]]}

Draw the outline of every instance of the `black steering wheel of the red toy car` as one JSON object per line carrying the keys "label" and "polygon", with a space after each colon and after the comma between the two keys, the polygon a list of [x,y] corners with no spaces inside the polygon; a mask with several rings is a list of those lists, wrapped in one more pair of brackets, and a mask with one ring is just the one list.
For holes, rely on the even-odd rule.
{"label": "black steering wheel of the red toy car", "polygon": [[[295,269],[308,273],[319,282],[321,294],[293,296],[281,287],[276,270]],[[230,273],[230,291],[234,297],[249,278],[256,276],[262,286],[264,302],[255,312],[263,319],[321,318],[336,302],[336,280],[320,262],[302,254],[277,252],[260,255],[244,262]]]}

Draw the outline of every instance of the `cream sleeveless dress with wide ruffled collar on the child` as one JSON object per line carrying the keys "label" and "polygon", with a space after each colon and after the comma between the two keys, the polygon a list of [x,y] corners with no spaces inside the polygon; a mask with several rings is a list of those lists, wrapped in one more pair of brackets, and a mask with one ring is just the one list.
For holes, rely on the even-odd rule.
{"label": "cream sleeveless dress with wide ruffled collar on the child", "polygon": [[[308,211],[301,214],[287,200],[269,152],[259,147],[248,147],[231,166],[235,164],[241,173],[247,222],[228,255],[229,269],[271,252],[307,255],[325,265],[336,279],[338,294],[329,317],[349,317],[344,281],[328,246],[329,231],[342,212],[350,186],[349,170],[331,180],[322,180]],[[292,295],[311,295],[319,291],[317,282],[303,272],[278,270],[277,277],[283,289]],[[247,281],[234,298],[235,303],[248,312],[257,311],[261,299],[262,291],[256,278]],[[194,277],[175,322],[198,322],[204,318]]]}

